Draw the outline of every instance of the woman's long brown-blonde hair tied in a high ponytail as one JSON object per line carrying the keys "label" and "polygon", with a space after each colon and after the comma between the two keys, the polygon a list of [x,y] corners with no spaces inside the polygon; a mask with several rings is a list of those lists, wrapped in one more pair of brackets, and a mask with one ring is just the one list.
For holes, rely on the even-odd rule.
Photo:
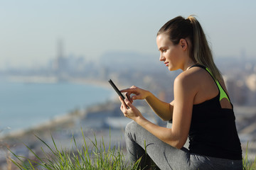
{"label": "woman's long brown-blonde hair tied in a high ponytail", "polygon": [[194,16],[187,19],[177,16],[164,24],[157,33],[169,35],[169,39],[177,45],[181,38],[191,40],[190,57],[197,64],[207,67],[215,79],[221,79],[221,73],[213,61],[213,55],[208,45],[206,35],[198,20]]}

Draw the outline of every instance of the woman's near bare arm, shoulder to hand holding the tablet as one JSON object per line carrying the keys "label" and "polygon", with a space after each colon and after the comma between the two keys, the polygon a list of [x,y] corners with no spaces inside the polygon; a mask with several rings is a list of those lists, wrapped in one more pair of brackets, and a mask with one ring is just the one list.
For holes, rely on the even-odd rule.
{"label": "woman's near bare arm, shoulder to hand holding the tablet", "polygon": [[129,109],[125,107],[124,101],[120,99],[122,102],[121,110],[125,117],[131,118],[163,142],[180,149],[186,143],[191,125],[193,98],[196,95],[194,84],[196,82],[193,79],[183,75],[177,77],[174,81],[175,105],[171,129],[160,127],[146,120],[127,99],[125,99],[125,103],[127,103]]}

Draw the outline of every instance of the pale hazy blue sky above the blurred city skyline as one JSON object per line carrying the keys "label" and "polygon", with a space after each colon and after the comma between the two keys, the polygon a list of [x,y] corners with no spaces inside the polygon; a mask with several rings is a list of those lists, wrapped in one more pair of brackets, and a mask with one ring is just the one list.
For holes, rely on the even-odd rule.
{"label": "pale hazy blue sky above the blurred city skyline", "polygon": [[[156,33],[198,16],[216,57],[256,57],[256,1],[0,0],[0,69],[38,67],[57,54],[88,60],[109,51],[156,54]],[[98,61],[100,62],[100,61]]]}

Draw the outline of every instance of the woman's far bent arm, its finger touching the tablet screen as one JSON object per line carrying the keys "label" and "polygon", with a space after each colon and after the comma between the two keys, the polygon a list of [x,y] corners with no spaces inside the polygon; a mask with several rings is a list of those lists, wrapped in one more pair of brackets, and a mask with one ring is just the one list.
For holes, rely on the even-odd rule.
{"label": "woman's far bent arm, its finger touching the tablet screen", "polygon": [[[171,120],[174,110],[174,101],[171,103],[166,103],[164,101],[159,100],[154,94],[151,94],[150,91],[146,91],[144,89],[140,89],[137,86],[132,86],[130,89],[124,89],[121,92],[126,92],[125,96],[127,96],[128,100],[133,103],[134,100],[137,99],[145,99],[149,106],[152,108],[156,115],[162,120]],[[134,96],[131,96],[134,94]]]}

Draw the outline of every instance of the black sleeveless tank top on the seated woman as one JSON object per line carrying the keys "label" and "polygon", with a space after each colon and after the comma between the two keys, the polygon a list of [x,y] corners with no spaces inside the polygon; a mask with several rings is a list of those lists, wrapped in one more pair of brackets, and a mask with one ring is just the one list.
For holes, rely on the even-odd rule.
{"label": "black sleeveless tank top on the seated woman", "polygon": [[[201,67],[208,72],[206,67],[201,65],[193,67]],[[216,82],[215,79],[214,81]],[[220,89],[215,98],[193,105],[188,138],[191,153],[223,159],[242,159],[234,111],[233,108],[221,108]]]}

